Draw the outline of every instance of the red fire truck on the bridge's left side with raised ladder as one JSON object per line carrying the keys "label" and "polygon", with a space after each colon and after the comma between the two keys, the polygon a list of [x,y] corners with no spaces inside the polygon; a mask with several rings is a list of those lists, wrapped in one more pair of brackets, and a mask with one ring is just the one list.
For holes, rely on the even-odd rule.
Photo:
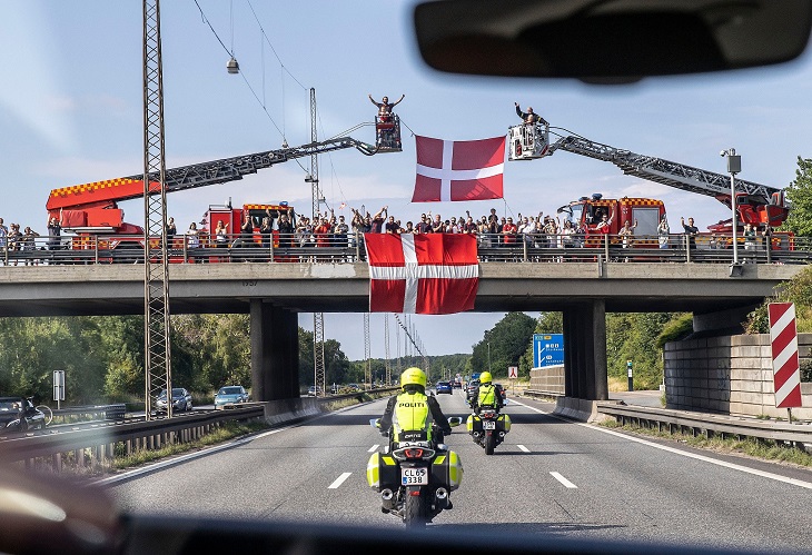
{"label": "red fire truck on the bridge's left side with raised ladder", "polygon": [[[373,156],[378,151],[376,147],[350,137],[340,137],[299,147],[224,158],[166,170],[166,191],[169,194],[235,181],[277,163],[346,148],[355,148],[366,156]],[[160,187],[157,175],[150,175],[150,187],[155,190],[159,190]],[[53,189],[46,208],[49,221],[51,218],[57,218],[63,230],[75,234],[70,248],[86,249],[98,246],[100,249],[111,250],[142,249],[143,228],[126,222],[125,212],[118,207],[123,200],[142,197],[143,176],[130,176]],[[241,208],[232,208],[230,204],[224,207],[209,207],[204,221],[214,229],[217,221],[221,220],[228,224],[228,232],[235,234],[240,228],[245,211],[258,222],[266,216],[266,210],[276,218],[283,211],[288,212],[288,207],[285,204],[245,205]],[[295,217],[293,212],[289,214]],[[208,229],[201,231],[205,238]],[[258,237],[258,228],[255,229],[255,234]]]}

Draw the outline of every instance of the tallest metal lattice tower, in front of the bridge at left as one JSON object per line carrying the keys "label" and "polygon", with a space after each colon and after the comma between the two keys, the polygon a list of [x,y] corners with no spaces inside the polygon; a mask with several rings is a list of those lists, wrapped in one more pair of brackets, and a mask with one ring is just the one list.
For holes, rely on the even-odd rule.
{"label": "tallest metal lattice tower, in front of the bridge at left", "polygon": [[[167,417],[172,416],[164,145],[160,6],[159,0],[143,0],[143,361],[148,420],[152,399],[161,389],[167,390]],[[159,245],[150,245],[151,237],[160,237]]]}

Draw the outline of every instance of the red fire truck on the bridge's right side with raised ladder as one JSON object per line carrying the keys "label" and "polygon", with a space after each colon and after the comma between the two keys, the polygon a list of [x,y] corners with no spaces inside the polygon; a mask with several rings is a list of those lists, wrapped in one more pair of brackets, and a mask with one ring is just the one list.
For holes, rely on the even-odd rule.
{"label": "red fire truck on the bridge's right side with raised ladder", "polygon": [[[509,128],[509,160],[533,160],[552,156],[556,150],[565,150],[597,160],[612,162],[624,174],[650,181],[676,187],[715,198],[727,208],[731,207],[730,176],[714,174],[700,168],[672,162],[662,158],[637,155],[628,150],[592,141],[584,137],[565,136],[549,142],[549,125],[518,125]],[[736,230],[744,224],[760,228],[780,226],[786,219],[790,207],[782,189],[766,185],[735,179]],[[637,227],[635,236],[656,236],[657,224],[665,214],[662,200],[646,198],[604,199],[601,195],[581,197],[558,209],[566,219],[583,227],[587,234],[594,232],[602,215],[612,218],[610,234],[620,231],[625,221]],[[709,227],[710,232],[731,234],[732,219]],[[780,234],[775,234],[774,241]]]}

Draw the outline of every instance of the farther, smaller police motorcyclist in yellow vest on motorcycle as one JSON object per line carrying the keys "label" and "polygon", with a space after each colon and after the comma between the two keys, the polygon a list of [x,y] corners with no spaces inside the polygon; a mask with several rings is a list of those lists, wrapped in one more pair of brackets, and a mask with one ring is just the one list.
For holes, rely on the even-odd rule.
{"label": "farther, smaller police motorcyclist in yellow vest on motorcycle", "polygon": [[479,386],[471,398],[473,414],[466,423],[468,434],[474,443],[485,449],[486,455],[493,455],[494,448],[505,439],[511,432],[511,417],[501,414],[504,400],[502,387],[495,385],[489,371],[479,375]]}

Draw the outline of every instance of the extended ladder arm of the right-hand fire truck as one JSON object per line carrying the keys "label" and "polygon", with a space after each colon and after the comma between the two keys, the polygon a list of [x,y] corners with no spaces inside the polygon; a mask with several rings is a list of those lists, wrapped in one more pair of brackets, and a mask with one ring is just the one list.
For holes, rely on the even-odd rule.
{"label": "extended ladder arm of the right-hand fire truck", "polygon": [[[552,155],[558,149],[612,162],[630,176],[714,197],[725,204],[730,202],[730,176],[723,174],[715,174],[652,156],[637,155],[628,150],[593,142],[582,137],[568,136],[558,139],[551,145],[549,153]],[[736,192],[746,194],[756,204],[763,205],[769,205],[772,195],[781,191],[775,187],[743,179],[735,179],[735,187]]]}

